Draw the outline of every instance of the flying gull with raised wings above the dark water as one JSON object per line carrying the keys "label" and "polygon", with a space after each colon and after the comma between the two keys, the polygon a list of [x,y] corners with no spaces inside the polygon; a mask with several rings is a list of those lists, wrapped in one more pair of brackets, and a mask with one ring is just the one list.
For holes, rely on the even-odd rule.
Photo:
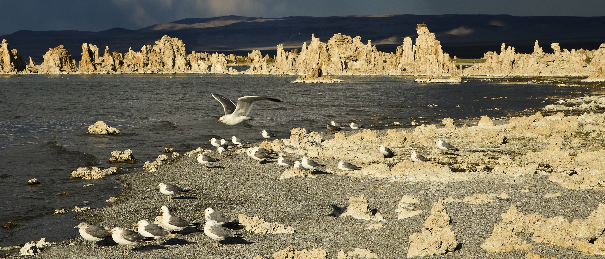
{"label": "flying gull with raised wings above the dark water", "polygon": [[223,97],[223,95],[212,94],[212,97],[217,99],[219,103],[223,104],[223,109],[225,112],[225,115],[219,118],[217,123],[224,123],[229,126],[234,126],[242,121],[253,120],[254,118],[248,117],[248,114],[250,114],[250,109],[252,109],[252,104],[255,101],[275,101],[277,103],[281,103],[281,100],[276,98],[244,96],[237,99],[237,106],[235,106],[231,100]]}

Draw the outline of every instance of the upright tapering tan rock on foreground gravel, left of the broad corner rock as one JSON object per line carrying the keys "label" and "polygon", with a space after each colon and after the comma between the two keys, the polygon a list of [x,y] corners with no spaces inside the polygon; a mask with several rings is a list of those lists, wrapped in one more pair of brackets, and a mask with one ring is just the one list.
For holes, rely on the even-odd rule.
{"label": "upright tapering tan rock on foreground gravel, left of the broad corner rock", "polygon": [[410,235],[407,257],[424,257],[453,252],[458,246],[457,235],[450,230],[450,216],[440,202],[433,204],[431,214],[424,222],[422,232]]}

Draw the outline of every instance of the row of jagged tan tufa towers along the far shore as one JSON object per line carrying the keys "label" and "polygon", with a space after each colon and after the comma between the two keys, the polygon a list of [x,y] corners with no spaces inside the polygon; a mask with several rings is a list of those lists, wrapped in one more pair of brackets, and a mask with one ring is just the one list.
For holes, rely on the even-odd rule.
{"label": "row of jagged tan tufa towers along the far shore", "polygon": [[[254,50],[247,57],[224,54],[187,54],[185,44],[173,37],[163,36],[155,45],[145,45],[141,51],[110,53],[105,47],[102,56],[96,45],[82,44],[82,60],[71,59],[63,45],[49,49],[44,62],[36,65],[30,57],[29,64],[10,50],[6,40],[0,48],[0,74],[125,74],[125,73],[201,73],[201,74],[317,74],[324,75],[425,75],[420,82],[460,82],[462,75],[523,76],[523,77],[588,77],[587,82],[605,81],[605,43],[598,50],[561,50],[552,43],[554,53],[545,53],[535,42],[531,54],[515,53],[515,48],[502,43],[500,54],[488,52],[485,63],[474,63],[462,69],[456,59],[443,53],[439,40],[425,24],[416,27],[418,37],[413,43],[405,37],[396,53],[384,53],[362,43],[361,37],[334,34],[327,43],[311,36],[309,44],[303,43],[301,51],[284,51],[277,46],[277,55],[271,59]],[[245,60],[250,68],[237,71],[228,68],[233,60]],[[315,69],[315,70],[314,70]],[[316,79],[316,78],[315,78]],[[299,81],[305,80],[304,77]],[[315,80],[321,82],[322,80]]]}

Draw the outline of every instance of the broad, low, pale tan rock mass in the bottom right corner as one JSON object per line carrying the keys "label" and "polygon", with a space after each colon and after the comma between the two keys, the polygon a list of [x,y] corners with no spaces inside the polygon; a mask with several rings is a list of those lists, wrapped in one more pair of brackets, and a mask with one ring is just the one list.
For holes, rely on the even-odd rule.
{"label": "broad, low, pale tan rock mass in the bottom right corner", "polygon": [[545,218],[533,213],[524,215],[511,205],[508,212],[502,214],[502,221],[494,224],[494,231],[481,248],[488,252],[509,252],[515,249],[529,250],[534,246],[517,237],[517,233],[533,233],[535,243],[572,247],[577,251],[591,255],[605,255],[605,205],[590,213],[586,220],[574,219],[572,222],[563,216]]}

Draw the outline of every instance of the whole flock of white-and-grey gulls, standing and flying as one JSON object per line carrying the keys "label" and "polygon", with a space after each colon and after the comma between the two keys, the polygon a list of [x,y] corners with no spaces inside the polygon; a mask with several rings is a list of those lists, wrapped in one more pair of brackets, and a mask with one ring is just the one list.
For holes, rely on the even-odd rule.
{"label": "whole flock of white-and-grey gulls, standing and flying", "polygon": [[[248,117],[248,115],[250,109],[252,108],[252,104],[255,101],[281,102],[281,100],[276,98],[244,96],[238,98],[236,106],[231,100],[223,97],[222,95],[212,94],[212,97],[218,100],[223,105],[224,109],[224,116],[220,117],[217,123],[221,122],[229,126],[239,124],[243,121],[253,120],[253,118]],[[363,127],[356,123],[350,123],[348,124],[348,126],[350,126],[351,129],[361,129]],[[344,128],[344,126],[338,125],[334,121],[331,121],[327,124],[327,129],[330,130],[330,132],[336,132],[338,130],[341,130],[342,128]],[[303,130],[304,134],[306,135],[312,132],[306,129]],[[263,130],[261,133],[263,135],[263,138],[267,140],[270,138],[275,138],[277,136],[275,135],[275,133],[270,132],[269,130]],[[236,136],[232,136],[231,139],[220,140],[212,138],[209,141],[211,145],[217,147],[217,152],[220,156],[222,156],[224,152],[227,152],[227,150],[232,147],[239,147],[241,149],[244,145],[249,144],[248,142],[243,141],[243,139],[237,138]],[[447,152],[448,150],[459,151],[453,145],[447,142],[443,142],[440,139],[435,141],[435,144],[440,150],[442,150],[442,152]],[[384,155],[384,158],[392,158],[395,155],[391,149],[385,147],[384,145],[379,146],[378,152]],[[295,160],[288,159],[281,155],[279,158],[274,158],[272,155],[275,155],[275,153],[269,152],[269,150],[263,149],[261,147],[248,147],[246,149],[246,154],[256,161],[263,162],[268,159],[277,159],[278,165],[284,167],[292,166],[301,170],[316,170],[319,167],[325,166],[319,164],[318,162],[310,160],[306,156]],[[416,151],[411,152],[410,155],[411,160],[413,160],[414,162],[428,161],[427,158],[420,155]],[[445,155],[445,153],[443,153],[443,155]],[[212,158],[211,156],[202,153],[198,153],[197,155],[197,162],[203,165],[204,168],[206,168],[208,164],[218,161],[218,159]],[[340,170],[358,170],[361,167],[341,160],[338,163],[338,168]],[[176,185],[164,183],[158,184],[157,190],[159,190],[160,193],[168,196],[168,202],[172,200],[173,194],[184,193],[189,191]],[[149,223],[147,220],[143,219],[134,224],[133,227],[136,227],[136,231],[119,227],[110,229],[106,226],[90,225],[87,222],[82,222],[74,228],[79,228],[80,236],[82,236],[82,238],[88,241],[92,241],[91,249],[94,250],[94,244],[97,241],[111,237],[113,241],[115,241],[119,245],[124,246],[123,254],[127,255],[130,249],[138,243],[151,243],[155,239],[167,236],[174,236],[185,228],[197,227],[199,225],[198,223],[192,223],[186,219],[170,214],[167,206],[162,206],[160,208],[159,214],[162,215],[162,226],[155,223]],[[218,246],[218,241],[220,240],[225,240],[227,238],[242,238],[241,234],[237,234],[232,229],[227,228],[227,226],[237,225],[239,224],[239,222],[229,219],[228,217],[224,216],[224,214],[215,211],[212,208],[207,208],[201,214],[203,214],[204,219],[206,219],[206,223],[203,229],[204,234],[209,238],[216,240],[215,247]]]}

